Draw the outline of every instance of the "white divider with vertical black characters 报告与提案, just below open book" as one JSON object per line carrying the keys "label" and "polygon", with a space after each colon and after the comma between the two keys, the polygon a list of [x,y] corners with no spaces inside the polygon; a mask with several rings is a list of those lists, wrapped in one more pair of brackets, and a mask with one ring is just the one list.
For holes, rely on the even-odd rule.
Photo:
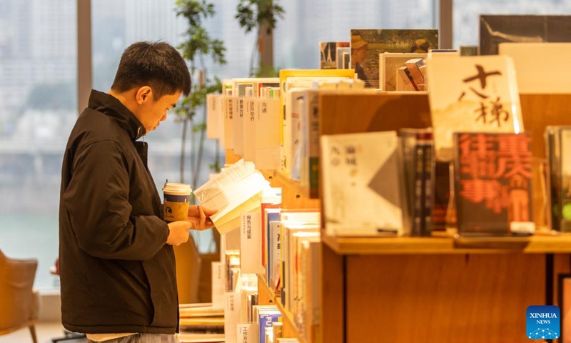
{"label": "white divider with vertical black characters \u62a5\u544a\u4e0e\u63d0\u6848, just below open book", "polygon": [[262,264],[261,213],[243,212],[240,218],[241,270],[243,274],[258,274]]}

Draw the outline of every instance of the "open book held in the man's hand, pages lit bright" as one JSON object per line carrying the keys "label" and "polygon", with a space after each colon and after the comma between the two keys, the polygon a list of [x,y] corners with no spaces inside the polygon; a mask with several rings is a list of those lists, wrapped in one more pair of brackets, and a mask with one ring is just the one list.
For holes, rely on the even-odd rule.
{"label": "open book held in the man's hand, pages lit bright", "polygon": [[269,187],[253,162],[241,159],[196,189],[194,195],[204,207],[218,209],[211,219],[218,232],[226,234],[240,227],[241,212],[260,207],[262,192]]}

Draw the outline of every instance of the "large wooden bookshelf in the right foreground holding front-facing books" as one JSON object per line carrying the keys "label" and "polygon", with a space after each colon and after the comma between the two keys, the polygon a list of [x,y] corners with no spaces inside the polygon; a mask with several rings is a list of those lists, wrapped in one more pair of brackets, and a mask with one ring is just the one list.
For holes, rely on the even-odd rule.
{"label": "large wooden bookshelf in the right foreground holding front-facing books", "polygon": [[[431,126],[426,94],[320,94],[320,134]],[[545,126],[571,124],[571,94],[521,96],[533,146],[534,216],[545,226]],[[328,237],[322,342],[524,342],[525,310],[557,304],[571,236]]]}

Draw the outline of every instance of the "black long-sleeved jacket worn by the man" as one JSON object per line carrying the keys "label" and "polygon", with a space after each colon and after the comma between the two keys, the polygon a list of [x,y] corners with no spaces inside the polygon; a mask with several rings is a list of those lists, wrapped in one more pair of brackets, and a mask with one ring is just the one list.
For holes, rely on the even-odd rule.
{"label": "black long-sleeved jacket worn by the man", "polygon": [[115,97],[92,91],[61,171],[61,316],[84,333],[178,330],[173,247],[146,166],[145,133]]}

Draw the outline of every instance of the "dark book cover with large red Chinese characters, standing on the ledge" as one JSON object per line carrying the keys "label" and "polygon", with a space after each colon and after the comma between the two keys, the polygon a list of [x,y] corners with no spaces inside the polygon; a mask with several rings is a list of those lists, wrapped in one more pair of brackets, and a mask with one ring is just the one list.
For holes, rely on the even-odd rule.
{"label": "dark book cover with large red Chinese characters, standing on the ledge", "polygon": [[507,235],[532,219],[529,134],[455,133],[459,234]]}

